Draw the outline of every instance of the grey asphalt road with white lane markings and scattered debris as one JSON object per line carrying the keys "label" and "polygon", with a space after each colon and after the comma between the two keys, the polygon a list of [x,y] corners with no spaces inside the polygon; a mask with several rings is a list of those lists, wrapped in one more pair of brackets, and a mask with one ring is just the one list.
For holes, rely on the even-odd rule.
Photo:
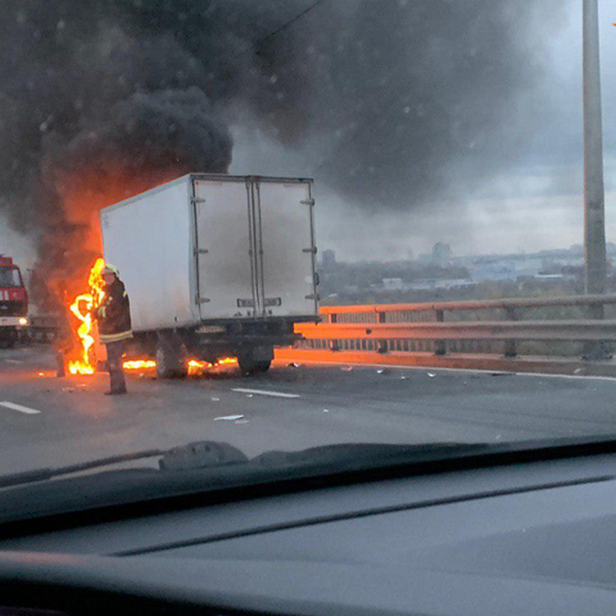
{"label": "grey asphalt road with white lane markings and scattered debris", "polygon": [[128,395],[104,396],[107,375],[55,378],[46,347],[0,351],[0,474],[195,440],[254,456],[339,442],[616,434],[616,379],[285,362],[252,378],[145,373],[128,385]]}

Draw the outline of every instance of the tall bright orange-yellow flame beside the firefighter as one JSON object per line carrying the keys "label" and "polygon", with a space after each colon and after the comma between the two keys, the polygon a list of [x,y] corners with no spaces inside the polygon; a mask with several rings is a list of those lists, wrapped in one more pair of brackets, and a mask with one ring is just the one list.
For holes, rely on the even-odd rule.
{"label": "tall bright orange-yellow flame beside the firefighter", "polygon": [[68,370],[71,375],[94,374],[94,365],[91,361],[91,349],[94,344],[91,311],[100,306],[100,302],[105,297],[105,282],[102,277],[104,268],[104,259],[99,258],[94,262],[87,281],[89,291],[78,295],[70,305],[71,312],[80,322],[77,335],[81,341],[81,357],[78,360],[68,362]]}

